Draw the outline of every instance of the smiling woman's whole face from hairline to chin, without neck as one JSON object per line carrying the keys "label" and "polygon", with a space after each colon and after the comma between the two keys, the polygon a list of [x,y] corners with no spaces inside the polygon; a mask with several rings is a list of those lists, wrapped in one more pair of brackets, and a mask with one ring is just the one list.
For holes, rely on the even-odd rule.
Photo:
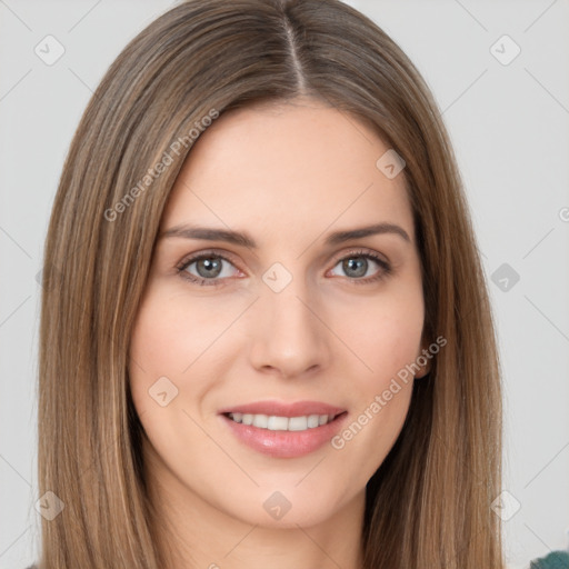
{"label": "smiling woman's whole face from hairline to chin, without neck", "polygon": [[279,527],[363,503],[423,347],[412,214],[388,150],[313,100],[221,116],[192,149],[129,366],[147,468],[178,503]]}

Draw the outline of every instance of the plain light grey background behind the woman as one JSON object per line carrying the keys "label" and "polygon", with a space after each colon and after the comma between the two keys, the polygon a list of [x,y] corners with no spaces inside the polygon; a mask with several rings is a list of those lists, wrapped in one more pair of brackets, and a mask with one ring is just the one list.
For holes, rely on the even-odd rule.
{"label": "plain light grey background behind the woman", "polygon": [[[508,562],[526,568],[569,538],[569,2],[349,3],[409,54],[450,130],[500,338]],[[0,0],[0,568],[38,556],[36,277],[62,162],[108,66],[170,6]],[[48,34],[66,50],[52,66],[34,53]]]}

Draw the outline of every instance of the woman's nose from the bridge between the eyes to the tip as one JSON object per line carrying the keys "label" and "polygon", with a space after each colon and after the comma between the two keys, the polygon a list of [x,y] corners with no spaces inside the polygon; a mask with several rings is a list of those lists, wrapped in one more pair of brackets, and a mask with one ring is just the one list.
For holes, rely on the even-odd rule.
{"label": "woman's nose from the bridge between the eyes to the tip", "polygon": [[261,298],[257,303],[258,326],[253,335],[252,363],[297,376],[326,366],[328,338],[319,320],[319,303],[306,280],[274,263],[263,274]]}

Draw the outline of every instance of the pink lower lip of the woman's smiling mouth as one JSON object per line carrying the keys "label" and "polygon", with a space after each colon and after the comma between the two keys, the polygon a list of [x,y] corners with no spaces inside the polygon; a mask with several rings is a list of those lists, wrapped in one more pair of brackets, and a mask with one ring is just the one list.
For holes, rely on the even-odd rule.
{"label": "pink lower lip of the woman's smiling mouth", "polygon": [[236,422],[221,415],[233,435],[244,445],[274,458],[296,458],[315,452],[340,430],[348,413],[345,411],[333,421],[305,431],[271,431],[252,425]]}

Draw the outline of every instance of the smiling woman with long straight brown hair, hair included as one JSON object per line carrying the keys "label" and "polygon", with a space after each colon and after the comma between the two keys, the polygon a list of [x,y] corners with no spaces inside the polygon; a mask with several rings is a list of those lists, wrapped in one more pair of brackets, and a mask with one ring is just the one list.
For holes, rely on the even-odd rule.
{"label": "smiling woman with long straight brown hair, hair included", "polygon": [[77,130],[43,274],[42,569],[505,567],[468,206],[361,13],[152,22]]}

